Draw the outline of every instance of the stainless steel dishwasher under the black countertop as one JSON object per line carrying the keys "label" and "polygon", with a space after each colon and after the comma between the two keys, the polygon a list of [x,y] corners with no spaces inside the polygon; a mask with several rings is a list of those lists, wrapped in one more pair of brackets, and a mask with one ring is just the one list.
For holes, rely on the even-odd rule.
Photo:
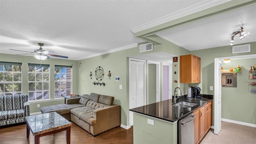
{"label": "stainless steel dishwasher under the black countertop", "polygon": [[179,144],[194,144],[194,118],[192,113],[178,121]]}

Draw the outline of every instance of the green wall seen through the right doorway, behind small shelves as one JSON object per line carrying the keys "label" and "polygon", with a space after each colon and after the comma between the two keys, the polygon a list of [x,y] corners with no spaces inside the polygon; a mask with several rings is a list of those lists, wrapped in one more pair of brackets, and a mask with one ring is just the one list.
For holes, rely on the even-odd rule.
{"label": "green wall seen through the right doorway, behind small shelves", "polygon": [[248,90],[248,70],[256,64],[256,58],[231,60],[228,64],[222,63],[222,67],[236,67],[238,64],[242,72],[236,74],[237,87],[222,87],[222,118],[256,124],[256,92]]}

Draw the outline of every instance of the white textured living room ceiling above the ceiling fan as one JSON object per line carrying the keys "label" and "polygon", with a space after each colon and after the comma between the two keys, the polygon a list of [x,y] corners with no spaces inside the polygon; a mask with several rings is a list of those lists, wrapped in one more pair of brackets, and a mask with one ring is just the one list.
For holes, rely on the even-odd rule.
{"label": "white textured living room ceiling above the ceiling fan", "polygon": [[[227,0],[218,0],[221,1]],[[44,50],[81,60],[134,47],[144,41],[134,37],[131,29],[202,3],[210,6],[210,2],[213,1],[0,0],[0,53],[24,54],[9,49],[33,52],[42,42]]]}

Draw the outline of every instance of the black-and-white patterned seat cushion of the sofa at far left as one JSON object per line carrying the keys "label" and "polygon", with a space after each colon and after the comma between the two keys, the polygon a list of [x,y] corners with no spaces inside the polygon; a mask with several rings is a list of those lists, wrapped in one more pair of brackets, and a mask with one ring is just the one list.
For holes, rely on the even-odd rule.
{"label": "black-and-white patterned seat cushion of the sofa at far left", "polygon": [[24,112],[24,109],[0,111],[0,120],[8,120],[25,116],[26,114]]}

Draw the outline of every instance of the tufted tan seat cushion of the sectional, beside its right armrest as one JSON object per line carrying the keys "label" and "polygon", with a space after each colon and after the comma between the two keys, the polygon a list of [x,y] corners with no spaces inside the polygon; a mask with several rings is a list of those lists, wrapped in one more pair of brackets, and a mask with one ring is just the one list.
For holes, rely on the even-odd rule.
{"label": "tufted tan seat cushion of the sectional, beside its right armrest", "polygon": [[75,116],[77,116],[81,120],[84,120],[88,124],[96,125],[97,122],[96,122],[96,119],[93,118],[93,110],[94,109],[92,109],[92,108],[82,106],[79,108],[73,108],[72,110],[70,110],[70,112],[71,112],[71,114],[74,114]]}

